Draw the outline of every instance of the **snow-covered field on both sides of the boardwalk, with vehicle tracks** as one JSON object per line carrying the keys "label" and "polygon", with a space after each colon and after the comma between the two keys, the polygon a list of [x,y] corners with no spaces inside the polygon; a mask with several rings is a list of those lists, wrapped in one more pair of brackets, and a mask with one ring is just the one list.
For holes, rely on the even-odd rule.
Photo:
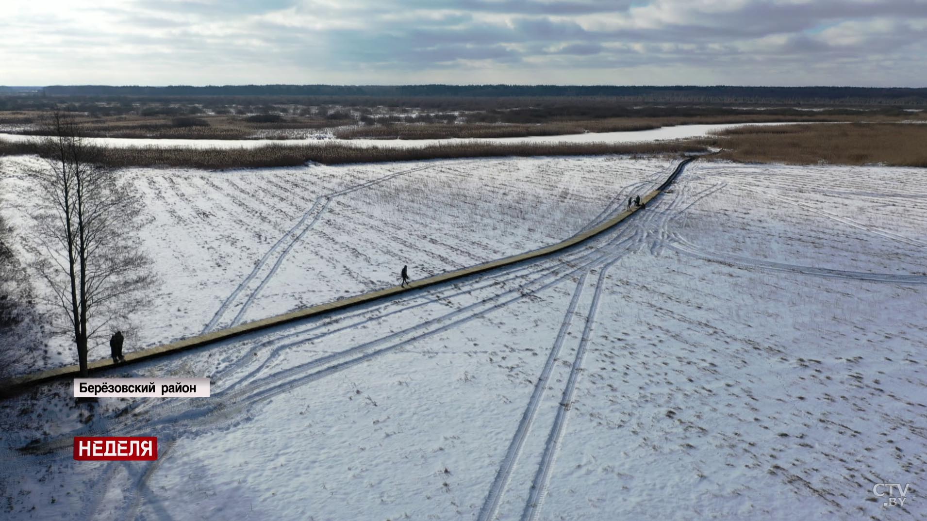
{"label": "snow-covered field on both sides of the boardwalk, with vehicle tracks", "polygon": [[[670,166],[486,159],[292,176],[133,175],[163,201],[155,236],[189,230],[174,240],[202,240],[197,248],[208,252],[186,268],[171,264],[203,270],[186,287],[212,292],[206,310],[170,319],[197,323],[214,313],[219,287],[230,287],[220,281],[247,278],[266,251],[257,245],[279,238],[239,239],[249,261],[232,261],[210,251],[219,241],[208,232],[233,244],[237,228],[286,231],[302,219],[292,207],[305,212],[347,188],[339,179],[397,174],[333,198],[315,224],[324,227],[304,237],[342,223],[327,240],[347,250],[369,242],[362,226],[377,225],[390,237],[377,244],[398,245],[414,229],[405,216],[429,209],[427,225],[462,229],[439,245],[414,237],[388,249],[383,259],[393,261],[373,274],[312,268],[316,256],[341,254],[321,242],[298,250],[300,241],[287,258],[306,267],[281,268],[272,279],[280,286],[264,289],[275,297],[255,299],[246,317],[274,311],[275,299],[296,301],[287,292],[324,299],[368,279],[391,283],[387,268],[416,248],[425,273],[452,263],[439,256],[477,261],[453,248],[487,257],[510,239],[532,248],[575,232],[610,197],[641,190]],[[421,167],[429,170],[399,173]],[[440,175],[425,177],[432,170]],[[426,182],[462,172],[454,188]],[[283,184],[280,197],[305,196],[273,203],[287,217],[258,211],[277,199],[257,195],[271,179],[298,184]],[[469,208],[455,197],[480,197],[490,184],[495,197],[524,199],[515,207],[524,213],[512,210],[493,231],[491,214],[467,211],[474,221],[462,224],[460,214],[435,211]],[[569,201],[559,212],[542,206],[558,194]],[[482,204],[510,200],[495,197]],[[396,208],[383,217],[396,221],[378,223],[387,211],[366,216],[372,203]],[[221,208],[238,213],[197,224],[200,212]],[[326,221],[334,210],[340,218]],[[555,258],[114,373],[209,375],[210,399],[103,399],[88,414],[61,384],[39,393],[38,405],[0,402],[2,508],[12,519],[922,519],[925,221],[922,170],[696,161],[629,222]],[[304,280],[295,273],[305,286],[289,286]],[[235,315],[238,300],[216,324]],[[86,433],[158,436],[159,460],[74,462],[71,437]],[[32,439],[30,451],[13,450]],[[906,505],[883,506],[877,483],[910,483]]]}

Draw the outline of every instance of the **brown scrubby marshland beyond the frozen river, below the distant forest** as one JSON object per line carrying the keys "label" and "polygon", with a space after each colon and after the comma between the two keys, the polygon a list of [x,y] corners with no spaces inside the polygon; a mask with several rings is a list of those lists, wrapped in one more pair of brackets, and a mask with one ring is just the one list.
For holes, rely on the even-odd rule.
{"label": "brown scrubby marshland beyond the frozen river, below the distant forest", "polygon": [[[21,99],[19,101],[22,101]],[[170,101],[170,103],[169,103]],[[629,106],[610,98],[343,99],[347,104],[305,105],[298,100],[204,98],[155,101],[74,101],[66,107],[88,137],[180,139],[288,139],[335,133],[343,139],[523,137],[565,133],[639,131],[682,124],[773,121],[899,121],[923,113],[892,107],[717,107],[693,104]],[[286,102],[286,103],[274,103]],[[305,101],[305,100],[303,100]],[[0,107],[3,99],[0,98]],[[375,105],[382,102],[386,105]],[[11,103],[8,99],[7,105]],[[373,104],[373,105],[372,105]],[[47,108],[2,110],[9,132],[42,134]],[[20,128],[15,128],[20,127]]]}

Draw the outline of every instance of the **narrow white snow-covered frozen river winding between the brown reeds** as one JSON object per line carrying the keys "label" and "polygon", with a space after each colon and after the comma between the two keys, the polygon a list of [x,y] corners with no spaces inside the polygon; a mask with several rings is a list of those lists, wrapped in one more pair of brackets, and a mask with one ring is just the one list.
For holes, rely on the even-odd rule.
{"label": "narrow white snow-covered frozen river winding between the brown reeds", "polygon": [[[574,133],[564,135],[533,135],[527,137],[494,137],[494,138],[449,138],[449,139],[287,139],[283,141],[269,141],[260,139],[142,139],[121,137],[94,137],[88,141],[105,146],[160,146],[167,148],[257,148],[267,146],[269,143],[286,146],[319,145],[325,143],[339,143],[349,146],[380,146],[383,148],[415,148],[431,145],[454,145],[460,143],[641,143],[667,139],[688,139],[704,137],[734,127],[749,125],[782,125],[790,123],[730,123],[713,125],[678,125],[674,127],[660,127],[658,129],[629,132],[606,133]],[[15,133],[0,133],[0,139],[11,142],[26,142],[34,139],[30,135]]]}

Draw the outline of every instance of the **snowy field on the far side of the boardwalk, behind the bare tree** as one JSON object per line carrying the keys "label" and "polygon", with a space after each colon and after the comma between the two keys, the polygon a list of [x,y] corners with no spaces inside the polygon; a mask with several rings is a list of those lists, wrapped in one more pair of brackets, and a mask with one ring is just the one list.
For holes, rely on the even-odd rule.
{"label": "snowy field on the far side of the boardwalk, behind the bare tree", "polygon": [[[670,159],[462,159],[233,172],[132,169],[163,285],[127,351],[446,273],[577,234],[609,203],[659,184]],[[5,215],[28,260],[38,159],[0,159]],[[36,280],[37,289],[47,288]],[[44,311],[52,311],[45,308]],[[73,363],[49,338],[44,369]],[[108,355],[106,337],[91,358]],[[32,357],[24,359],[33,360]]]}

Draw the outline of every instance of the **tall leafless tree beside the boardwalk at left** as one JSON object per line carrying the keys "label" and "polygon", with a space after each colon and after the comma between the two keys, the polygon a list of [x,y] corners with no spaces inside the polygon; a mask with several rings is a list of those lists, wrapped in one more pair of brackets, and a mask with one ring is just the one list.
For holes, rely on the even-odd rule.
{"label": "tall leafless tree beside the boardwalk at left", "polygon": [[86,376],[90,341],[138,311],[156,277],[137,234],[142,200],[132,184],[101,164],[105,150],[83,139],[69,115],[55,112],[47,131],[47,168],[32,172],[44,248],[34,265],[67,316],[62,329],[73,334]]}

